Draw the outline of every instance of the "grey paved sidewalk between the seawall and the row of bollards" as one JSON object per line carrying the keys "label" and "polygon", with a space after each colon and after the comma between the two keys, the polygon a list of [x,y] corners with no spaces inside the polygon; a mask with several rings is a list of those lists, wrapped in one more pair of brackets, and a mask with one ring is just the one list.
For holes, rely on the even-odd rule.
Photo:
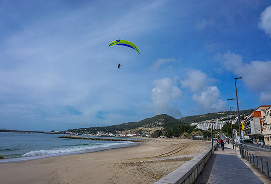
{"label": "grey paved sidewalk between the seawall and the row of bollards", "polygon": [[[235,155],[232,144],[214,151],[194,184],[264,184],[249,167]],[[236,148],[239,154],[239,148]]]}

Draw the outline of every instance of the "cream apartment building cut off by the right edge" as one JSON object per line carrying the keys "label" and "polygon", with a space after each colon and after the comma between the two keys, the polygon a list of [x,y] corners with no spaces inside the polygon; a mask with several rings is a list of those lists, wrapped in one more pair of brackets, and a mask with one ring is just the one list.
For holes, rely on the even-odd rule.
{"label": "cream apartment building cut off by the right edge", "polygon": [[271,145],[271,106],[264,110],[264,116],[261,121],[265,145]]}

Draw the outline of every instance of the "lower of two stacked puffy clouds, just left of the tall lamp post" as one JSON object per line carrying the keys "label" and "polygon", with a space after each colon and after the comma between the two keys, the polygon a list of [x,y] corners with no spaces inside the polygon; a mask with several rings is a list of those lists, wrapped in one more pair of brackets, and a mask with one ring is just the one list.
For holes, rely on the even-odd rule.
{"label": "lower of two stacked puffy clouds, just left of the tall lamp post", "polygon": [[198,103],[203,112],[222,111],[227,108],[226,102],[219,99],[220,91],[216,86],[210,86],[200,94],[194,94],[192,99]]}

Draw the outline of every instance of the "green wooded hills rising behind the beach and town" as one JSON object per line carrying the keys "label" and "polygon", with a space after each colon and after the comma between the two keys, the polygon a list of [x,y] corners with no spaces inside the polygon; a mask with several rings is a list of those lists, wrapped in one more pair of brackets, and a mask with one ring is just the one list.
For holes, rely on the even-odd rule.
{"label": "green wooded hills rising behind the beach and town", "polygon": [[[242,110],[240,111],[240,115],[246,116],[253,111],[254,109]],[[237,114],[237,112],[232,111],[232,115],[234,114]],[[189,125],[190,123],[198,123],[205,120],[227,117],[228,115],[230,115],[230,112],[226,111],[219,113],[207,113],[204,115],[187,116],[180,119],[175,119],[172,116],[161,114],[151,118],[146,118],[139,122],[128,122],[104,127],[69,129],[67,131],[79,134],[81,133],[97,134],[98,132],[102,132],[102,133],[121,133],[121,134],[152,134],[153,137],[157,136],[179,137],[184,132],[190,134],[194,131],[195,127],[190,126]],[[210,132],[202,133],[208,136]]]}

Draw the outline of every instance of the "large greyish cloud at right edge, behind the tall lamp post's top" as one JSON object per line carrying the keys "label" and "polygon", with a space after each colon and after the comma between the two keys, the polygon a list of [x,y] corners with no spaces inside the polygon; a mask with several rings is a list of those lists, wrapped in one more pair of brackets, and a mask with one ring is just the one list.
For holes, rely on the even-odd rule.
{"label": "large greyish cloud at right edge, behind the tall lamp post's top", "polygon": [[228,52],[216,56],[223,68],[233,72],[237,77],[242,77],[242,81],[253,91],[260,93],[259,100],[271,101],[271,61],[251,61],[244,63],[242,56]]}

